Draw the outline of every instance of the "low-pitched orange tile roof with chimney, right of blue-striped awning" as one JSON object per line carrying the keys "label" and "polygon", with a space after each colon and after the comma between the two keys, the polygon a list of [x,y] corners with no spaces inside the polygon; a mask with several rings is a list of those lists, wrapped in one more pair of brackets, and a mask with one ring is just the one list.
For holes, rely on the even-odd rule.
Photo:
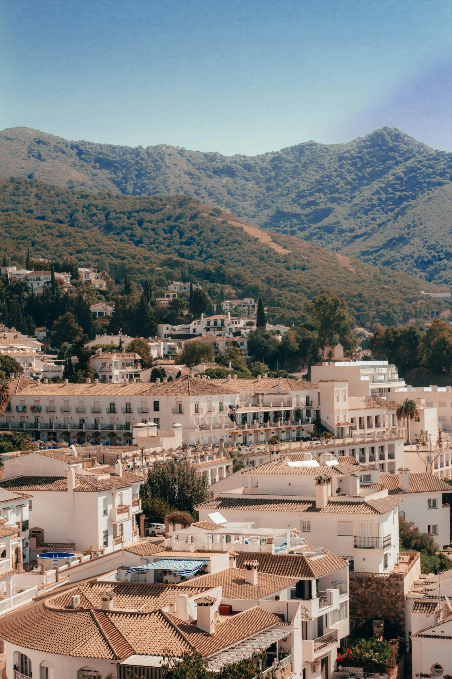
{"label": "low-pitched orange tile roof with chimney, right of blue-striped awning", "polygon": [[[249,553],[245,554],[249,558]],[[256,560],[260,562],[261,554],[256,555]],[[243,566],[243,560],[241,566]],[[247,575],[246,570],[241,570],[241,568],[227,568],[226,570],[221,570],[218,573],[201,575],[196,579],[197,585],[199,587],[208,587],[213,589],[213,587],[222,586],[223,597],[226,599],[249,599],[256,601],[258,600],[258,593],[260,597],[270,596],[281,589],[290,587],[294,585],[296,580],[289,577],[281,576],[269,576],[265,572],[259,573],[258,575],[258,585],[249,585],[245,583],[245,576]],[[190,582],[180,583],[178,587],[190,586]]]}

